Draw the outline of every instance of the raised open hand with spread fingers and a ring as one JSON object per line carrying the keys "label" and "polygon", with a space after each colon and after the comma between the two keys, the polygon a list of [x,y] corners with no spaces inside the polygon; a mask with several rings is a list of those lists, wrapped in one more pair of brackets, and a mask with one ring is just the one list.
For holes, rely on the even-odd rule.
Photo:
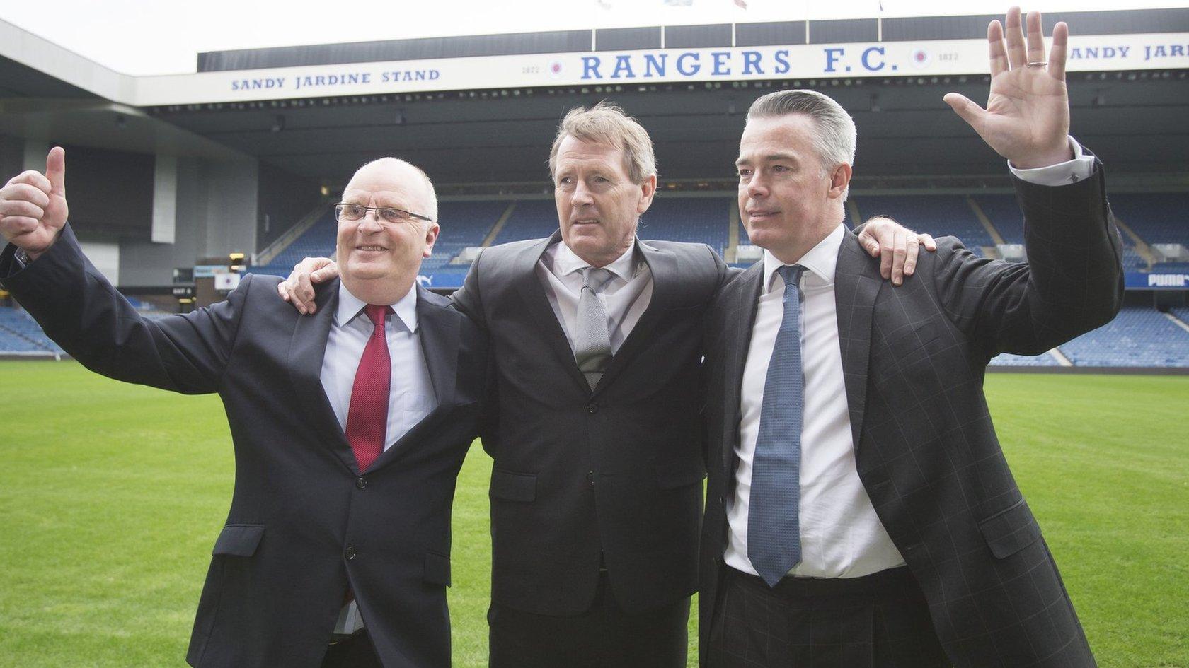
{"label": "raised open hand with spread fingers and a ring", "polygon": [[[945,95],[988,146],[1018,169],[1048,166],[1071,159],[1065,52],[1069,26],[1052,29],[1052,49],[1044,59],[1040,12],[1027,14],[1027,40],[1020,8],[1007,12],[1006,29],[998,20],[987,27],[990,48],[990,96],[987,108],[957,93]],[[1006,34],[1005,34],[1006,33]],[[1006,45],[1005,45],[1006,37]]]}

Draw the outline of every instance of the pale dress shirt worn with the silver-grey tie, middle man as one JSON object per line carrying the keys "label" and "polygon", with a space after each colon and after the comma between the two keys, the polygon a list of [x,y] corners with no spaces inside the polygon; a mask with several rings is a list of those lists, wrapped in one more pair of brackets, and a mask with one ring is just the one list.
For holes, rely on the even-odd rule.
{"label": "pale dress shirt worn with the silver-grey tie, middle man", "polygon": [[[619,351],[653,298],[653,272],[643,258],[636,257],[635,251],[636,241],[633,240],[622,256],[603,267],[611,272],[611,279],[598,291],[598,298],[611,323],[611,354]],[[579,258],[561,241],[551,244],[536,263],[536,276],[566,333],[570,349],[574,349],[578,298],[583,292],[583,269],[587,266],[591,266],[590,263]]]}

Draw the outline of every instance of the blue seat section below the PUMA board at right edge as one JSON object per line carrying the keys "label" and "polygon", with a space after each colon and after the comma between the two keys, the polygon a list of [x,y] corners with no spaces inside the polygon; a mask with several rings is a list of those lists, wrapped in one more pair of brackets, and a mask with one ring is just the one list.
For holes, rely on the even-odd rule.
{"label": "blue seat section below the PUMA board at right edge", "polygon": [[1061,352],[1075,366],[1189,367],[1189,332],[1156,309],[1125,307]]}

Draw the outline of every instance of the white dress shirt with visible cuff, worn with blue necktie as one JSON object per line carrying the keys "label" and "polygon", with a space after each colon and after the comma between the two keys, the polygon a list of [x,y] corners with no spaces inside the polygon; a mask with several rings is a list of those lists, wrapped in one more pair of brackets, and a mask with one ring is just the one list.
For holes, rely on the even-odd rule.
{"label": "white dress shirt with visible cuff, worn with blue necktie", "polygon": [[[1008,168],[1018,178],[1038,185],[1077,183],[1093,174],[1094,158],[1083,155],[1072,137],[1069,144],[1074,153],[1071,160],[1026,170],[1008,163]],[[789,571],[788,574],[794,576],[858,578],[905,563],[875,515],[855,465],[833,294],[835,269],[844,234],[845,229],[839,223],[797,263],[806,271],[800,279],[805,295],[800,327],[805,378],[800,470],[801,562]],[[724,560],[728,566],[753,575],[757,573],[747,556],[751,462],[760,430],[768,363],[785,315],[785,282],[775,273],[781,264],[772,253],[763,252],[763,284],[740,393],[735,494],[726,502],[729,536]]]}

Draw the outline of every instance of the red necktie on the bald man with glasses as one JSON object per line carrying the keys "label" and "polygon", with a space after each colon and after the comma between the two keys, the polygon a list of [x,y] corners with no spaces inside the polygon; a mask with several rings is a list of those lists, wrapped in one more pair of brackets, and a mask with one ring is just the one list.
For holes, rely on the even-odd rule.
{"label": "red necktie on the bald man with glasses", "polygon": [[351,389],[351,408],[347,410],[347,442],[356,453],[356,462],[363,473],[384,450],[384,434],[388,431],[388,396],[392,382],[392,363],[388,355],[388,338],[384,335],[384,315],[390,307],[367,304],[364,311],[372,321],[372,335],[364,346],[356,371],[356,384]]}

